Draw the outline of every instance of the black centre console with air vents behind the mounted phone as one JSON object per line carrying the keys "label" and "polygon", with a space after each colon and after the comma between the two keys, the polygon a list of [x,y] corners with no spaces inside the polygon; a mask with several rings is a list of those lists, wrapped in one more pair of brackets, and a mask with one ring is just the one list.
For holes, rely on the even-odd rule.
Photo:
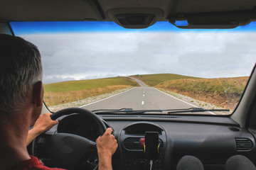
{"label": "black centre console with air vents behind the mounted phone", "polygon": [[166,132],[164,128],[149,122],[132,123],[122,130],[120,142],[122,144],[122,158],[124,170],[149,170],[150,160],[146,159],[145,133],[157,132],[159,140],[157,156],[153,160],[152,170],[161,170],[164,166],[164,149],[166,148]]}

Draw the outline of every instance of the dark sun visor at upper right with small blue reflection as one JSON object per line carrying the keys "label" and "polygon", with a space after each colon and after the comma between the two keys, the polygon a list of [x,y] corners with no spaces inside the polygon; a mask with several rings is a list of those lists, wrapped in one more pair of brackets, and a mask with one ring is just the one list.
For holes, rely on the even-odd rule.
{"label": "dark sun visor at upper right with small blue reflection", "polygon": [[[184,25],[178,25],[178,21]],[[235,11],[225,13],[188,13],[169,16],[169,22],[178,28],[228,29],[245,26],[256,21],[256,11]]]}

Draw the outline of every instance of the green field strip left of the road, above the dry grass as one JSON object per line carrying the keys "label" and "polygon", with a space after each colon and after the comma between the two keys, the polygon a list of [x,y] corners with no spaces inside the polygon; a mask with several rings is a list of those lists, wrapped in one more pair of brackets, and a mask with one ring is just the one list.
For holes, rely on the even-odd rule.
{"label": "green field strip left of the road, above the dry grass", "polygon": [[54,84],[43,84],[45,92],[80,91],[84,89],[96,89],[106,86],[139,86],[136,81],[127,77],[112,77],[106,79],[89,79],[77,81],[63,81]]}

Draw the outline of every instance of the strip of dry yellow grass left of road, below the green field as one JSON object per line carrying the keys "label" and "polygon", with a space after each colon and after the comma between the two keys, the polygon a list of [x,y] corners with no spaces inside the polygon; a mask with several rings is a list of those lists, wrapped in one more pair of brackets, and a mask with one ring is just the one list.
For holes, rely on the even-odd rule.
{"label": "strip of dry yellow grass left of road, below the green field", "polygon": [[55,106],[58,104],[69,103],[72,101],[79,101],[84,98],[91,96],[98,96],[101,94],[111,93],[112,91],[117,91],[119,89],[125,89],[131,86],[127,85],[116,85],[116,86],[106,86],[95,89],[82,89],[79,91],[56,91],[56,92],[46,92],[44,94],[43,100],[47,103],[47,106]]}

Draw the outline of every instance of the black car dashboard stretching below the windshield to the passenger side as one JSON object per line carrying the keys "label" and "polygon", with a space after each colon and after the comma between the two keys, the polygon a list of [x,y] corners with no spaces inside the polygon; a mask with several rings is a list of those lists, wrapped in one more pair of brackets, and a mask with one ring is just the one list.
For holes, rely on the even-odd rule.
{"label": "black car dashboard stretching below the windshield to the passenger side", "polygon": [[[99,115],[107,127],[114,129],[119,147],[112,158],[113,169],[149,169],[142,139],[145,132],[159,134],[158,161],[154,170],[176,169],[185,155],[201,160],[204,169],[225,169],[227,159],[235,154],[256,162],[255,138],[228,117],[209,115]],[[52,132],[65,132],[95,141],[100,135],[97,127],[80,115],[58,118]],[[38,148],[38,150],[41,150]],[[42,152],[41,152],[41,155]],[[40,157],[40,154],[38,155]],[[48,165],[49,166],[49,165]]]}

